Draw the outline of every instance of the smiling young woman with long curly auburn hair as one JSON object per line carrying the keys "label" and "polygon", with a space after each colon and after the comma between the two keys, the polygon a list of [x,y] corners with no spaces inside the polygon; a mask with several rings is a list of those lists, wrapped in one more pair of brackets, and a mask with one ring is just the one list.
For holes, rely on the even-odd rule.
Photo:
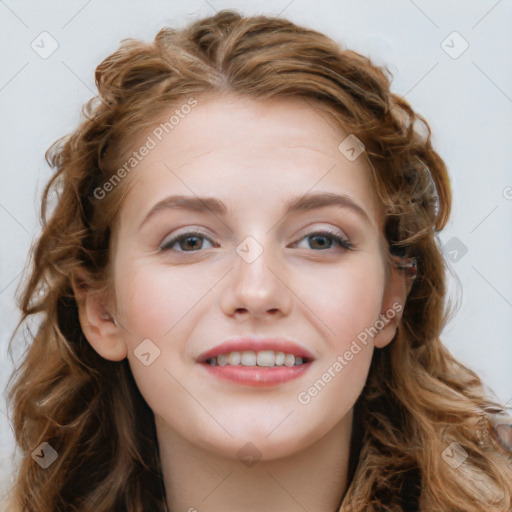
{"label": "smiling young woman with long curly auburn hair", "polygon": [[510,510],[504,409],[439,339],[446,167],[384,71],[223,11],[96,82],[47,154],[10,510]]}

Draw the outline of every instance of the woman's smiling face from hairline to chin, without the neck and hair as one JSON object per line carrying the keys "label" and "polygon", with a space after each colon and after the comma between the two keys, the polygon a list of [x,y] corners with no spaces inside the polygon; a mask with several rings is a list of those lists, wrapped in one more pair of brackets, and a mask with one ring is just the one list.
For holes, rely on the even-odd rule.
{"label": "woman's smiling face from hairline to chin, without the neck and hair", "polygon": [[382,213],[308,103],[197,102],[126,178],[118,343],[160,432],[290,455],[348,424],[393,337]]}

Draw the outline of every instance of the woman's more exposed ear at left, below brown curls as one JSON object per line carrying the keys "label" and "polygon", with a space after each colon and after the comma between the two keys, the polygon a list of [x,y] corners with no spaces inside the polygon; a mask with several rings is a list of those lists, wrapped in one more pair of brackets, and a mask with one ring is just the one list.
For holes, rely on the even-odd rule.
{"label": "woman's more exposed ear at left, below brown curls", "polygon": [[[80,281],[84,282],[83,279]],[[110,361],[125,359],[127,348],[122,328],[110,314],[105,297],[91,291],[91,288],[78,285],[76,279],[72,279],[72,286],[82,332],[92,348]]]}

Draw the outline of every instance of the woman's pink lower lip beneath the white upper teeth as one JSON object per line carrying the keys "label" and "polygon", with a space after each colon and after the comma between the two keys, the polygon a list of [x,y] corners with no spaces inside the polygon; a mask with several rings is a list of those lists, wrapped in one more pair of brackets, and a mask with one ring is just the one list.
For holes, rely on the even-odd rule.
{"label": "woman's pink lower lip beneath the white upper teeth", "polygon": [[300,377],[308,370],[311,363],[303,363],[296,366],[213,366],[202,363],[206,371],[219,379],[229,380],[236,384],[246,386],[269,387],[283,384]]}

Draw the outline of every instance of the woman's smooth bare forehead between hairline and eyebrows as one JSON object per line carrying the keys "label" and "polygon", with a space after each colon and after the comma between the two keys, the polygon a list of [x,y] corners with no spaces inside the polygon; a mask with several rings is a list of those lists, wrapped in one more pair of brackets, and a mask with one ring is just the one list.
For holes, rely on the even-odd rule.
{"label": "woman's smooth bare forehead between hairline and eyebrows", "polygon": [[232,198],[240,209],[268,205],[272,196],[282,203],[287,195],[329,190],[352,196],[379,217],[364,154],[350,161],[340,152],[349,134],[318,104],[235,95],[196,100],[186,114],[175,115],[179,106],[163,113],[134,144],[138,148],[148,136],[155,142],[130,178],[130,210],[147,210],[171,193],[217,196],[227,203]]}

